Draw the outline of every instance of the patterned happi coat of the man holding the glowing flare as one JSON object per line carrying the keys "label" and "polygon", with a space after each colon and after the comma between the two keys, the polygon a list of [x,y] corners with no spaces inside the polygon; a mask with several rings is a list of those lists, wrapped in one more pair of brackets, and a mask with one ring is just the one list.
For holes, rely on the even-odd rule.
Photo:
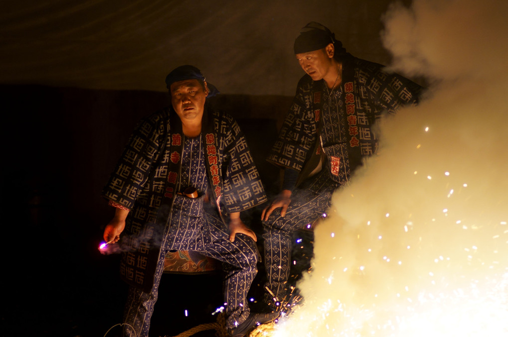
{"label": "patterned happi coat of the man holding the glowing flare", "polygon": [[[266,201],[265,191],[238,124],[205,105],[203,136],[211,202],[219,212],[240,212]],[[138,124],[103,196],[129,210],[120,247],[126,250],[120,275],[128,284],[150,291],[167,235],[183,150],[182,126],[172,108]],[[185,186],[186,187],[186,186]],[[226,226],[226,224],[225,224]]]}

